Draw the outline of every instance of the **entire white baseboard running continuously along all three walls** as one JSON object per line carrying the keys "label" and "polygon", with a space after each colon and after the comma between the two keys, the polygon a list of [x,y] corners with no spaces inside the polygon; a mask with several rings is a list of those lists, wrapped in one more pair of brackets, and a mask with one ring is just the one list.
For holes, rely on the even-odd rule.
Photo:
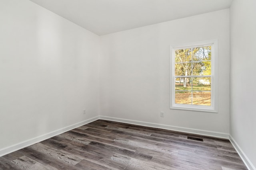
{"label": "entire white baseboard running continuously along all three walls", "polygon": [[15,145],[11,145],[9,147],[3,148],[0,150],[0,157],[4,156],[6,154],[9,154],[11,152],[14,152],[16,150],[28,147],[30,145],[33,145],[35,143],[44,141],[46,139],[49,139],[51,137],[54,137],[56,135],[59,135],[61,133],[64,133],[66,131],[70,131],[72,129],[75,129],[77,127],[80,127],[82,125],[86,125],[92,121],[96,121],[98,119],[103,119],[103,120],[109,120],[109,121],[117,121],[117,122],[122,122],[122,123],[130,123],[134,125],[141,125],[141,126],[147,126],[147,127],[155,127],[155,128],[160,128],[160,129],[167,129],[167,130],[172,130],[172,131],[179,131],[179,132],[184,132],[184,133],[192,133],[192,134],[197,134],[197,135],[204,135],[204,136],[210,136],[210,137],[218,137],[218,138],[223,138],[223,139],[229,139],[236,151],[238,152],[239,156],[243,160],[244,164],[248,168],[248,170],[256,170],[252,162],[248,159],[248,157],[244,154],[242,149],[239,147],[239,145],[236,143],[234,138],[229,135],[228,133],[220,133],[220,132],[215,132],[215,131],[204,131],[200,129],[192,129],[192,128],[186,128],[186,127],[177,127],[177,126],[170,126],[170,125],[163,125],[163,124],[158,124],[158,123],[150,123],[150,122],[144,122],[144,121],[136,121],[136,120],[129,120],[129,119],[121,119],[121,118],[116,118],[116,117],[108,117],[108,116],[96,116],[92,117],[90,119],[87,119],[85,121],[81,121],[79,123],[75,123],[73,125],[64,127],[62,129],[58,129],[56,131],[52,131],[50,133],[41,135],[39,137],[35,137],[32,139],[28,139],[26,141],[17,143]]}

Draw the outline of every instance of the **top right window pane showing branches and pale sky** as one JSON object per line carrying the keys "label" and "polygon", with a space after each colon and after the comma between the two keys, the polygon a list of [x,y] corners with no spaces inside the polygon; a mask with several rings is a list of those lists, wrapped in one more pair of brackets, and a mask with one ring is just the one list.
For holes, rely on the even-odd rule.
{"label": "top right window pane showing branches and pale sky", "polygon": [[204,61],[211,60],[212,58],[212,47],[196,47],[192,48],[193,61]]}

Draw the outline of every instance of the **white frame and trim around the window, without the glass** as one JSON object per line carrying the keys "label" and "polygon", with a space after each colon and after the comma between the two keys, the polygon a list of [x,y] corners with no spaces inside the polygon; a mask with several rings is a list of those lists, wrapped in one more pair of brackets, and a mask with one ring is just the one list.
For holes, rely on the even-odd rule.
{"label": "white frame and trim around the window, without the glass", "polygon": [[[175,50],[193,47],[212,46],[211,57],[211,106],[175,104]],[[204,111],[218,113],[218,40],[200,41],[170,46],[170,109]]]}

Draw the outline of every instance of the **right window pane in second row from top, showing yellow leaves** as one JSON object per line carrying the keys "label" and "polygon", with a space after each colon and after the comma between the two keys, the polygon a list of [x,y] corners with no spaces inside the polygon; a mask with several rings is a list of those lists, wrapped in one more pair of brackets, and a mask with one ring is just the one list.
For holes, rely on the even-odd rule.
{"label": "right window pane in second row from top, showing yellow leaves", "polygon": [[200,61],[192,64],[193,75],[211,75],[212,64],[211,61]]}

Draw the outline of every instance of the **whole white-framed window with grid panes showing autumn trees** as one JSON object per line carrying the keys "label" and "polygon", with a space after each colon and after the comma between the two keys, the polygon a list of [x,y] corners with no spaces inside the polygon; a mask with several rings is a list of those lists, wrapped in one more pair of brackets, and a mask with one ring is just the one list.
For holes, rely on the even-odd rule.
{"label": "whole white-framed window with grid panes showing autumn trees", "polygon": [[217,112],[217,40],[171,47],[171,109]]}

